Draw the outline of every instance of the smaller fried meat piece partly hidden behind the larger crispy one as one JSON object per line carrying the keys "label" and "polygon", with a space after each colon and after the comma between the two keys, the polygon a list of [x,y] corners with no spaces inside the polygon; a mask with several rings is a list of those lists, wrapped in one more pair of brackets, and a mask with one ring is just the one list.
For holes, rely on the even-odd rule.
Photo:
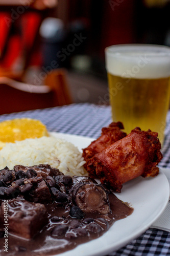
{"label": "smaller fried meat piece partly hidden behind the larger crispy one", "polygon": [[84,167],[87,167],[88,160],[95,154],[103,151],[107,146],[111,145],[117,140],[124,138],[127,134],[121,131],[124,129],[122,122],[112,122],[108,127],[102,128],[101,136],[92,141],[91,144],[83,149],[83,157],[86,163]]}

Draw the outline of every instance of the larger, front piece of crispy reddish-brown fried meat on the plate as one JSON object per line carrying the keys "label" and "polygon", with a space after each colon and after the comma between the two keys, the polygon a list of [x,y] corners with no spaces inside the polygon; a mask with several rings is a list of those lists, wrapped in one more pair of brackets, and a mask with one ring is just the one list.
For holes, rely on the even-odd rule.
{"label": "larger, front piece of crispy reddish-brown fried meat on the plate", "polygon": [[100,178],[103,184],[120,192],[122,184],[138,176],[156,176],[157,164],[162,159],[158,134],[136,127],[101,153],[90,159],[87,172],[91,177]]}

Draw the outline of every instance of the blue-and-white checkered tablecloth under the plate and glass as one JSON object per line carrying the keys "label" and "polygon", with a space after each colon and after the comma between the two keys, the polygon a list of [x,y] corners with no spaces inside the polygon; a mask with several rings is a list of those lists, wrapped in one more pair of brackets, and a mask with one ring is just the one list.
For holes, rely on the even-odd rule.
{"label": "blue-and-white checkered tablecloth under the plate and glass", "polygon": [[[111,122],[111,110],[110,106],[81,103],[1,115],[0,121],[20,117],[39,119],[47,126],[50,132],[97,138],[101,134],[101,128]],[[160,166],[170,168],[170,112],[167,115],[167,126],[162,153],[163,159]],[[149,228],[127,246],[109,255],[170,255],[170,233],[155,228]]]}

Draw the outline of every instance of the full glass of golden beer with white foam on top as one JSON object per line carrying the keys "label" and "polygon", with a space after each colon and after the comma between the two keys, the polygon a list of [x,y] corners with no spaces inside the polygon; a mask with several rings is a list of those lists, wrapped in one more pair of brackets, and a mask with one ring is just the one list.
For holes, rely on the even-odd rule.
{"label": "full glass of golden beer with white foam on top", "polygon": [[105,49],[113,121],[130,133],[136,126],[164,139],[170,98],[170,48],[114,45]]}

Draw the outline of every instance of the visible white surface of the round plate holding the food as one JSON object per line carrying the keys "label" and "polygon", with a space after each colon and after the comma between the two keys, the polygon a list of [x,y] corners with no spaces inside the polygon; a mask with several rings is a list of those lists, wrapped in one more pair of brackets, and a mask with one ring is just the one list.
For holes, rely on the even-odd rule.
{"label": "visible white surface of the round plate holding the food", "polygon": [[[77,135],[51,134],[75,144],[79,150],[87,147],[94,140]],[[134,208],[132,215],[116,221],[102,237],[57,256],[103,256],[125,246],[160,217],[169,200],[169,183],[160,168],[157,177],[145,179],[138,177],[125,183],[121,193],[115,193],[115,195],[132,205]]]}

